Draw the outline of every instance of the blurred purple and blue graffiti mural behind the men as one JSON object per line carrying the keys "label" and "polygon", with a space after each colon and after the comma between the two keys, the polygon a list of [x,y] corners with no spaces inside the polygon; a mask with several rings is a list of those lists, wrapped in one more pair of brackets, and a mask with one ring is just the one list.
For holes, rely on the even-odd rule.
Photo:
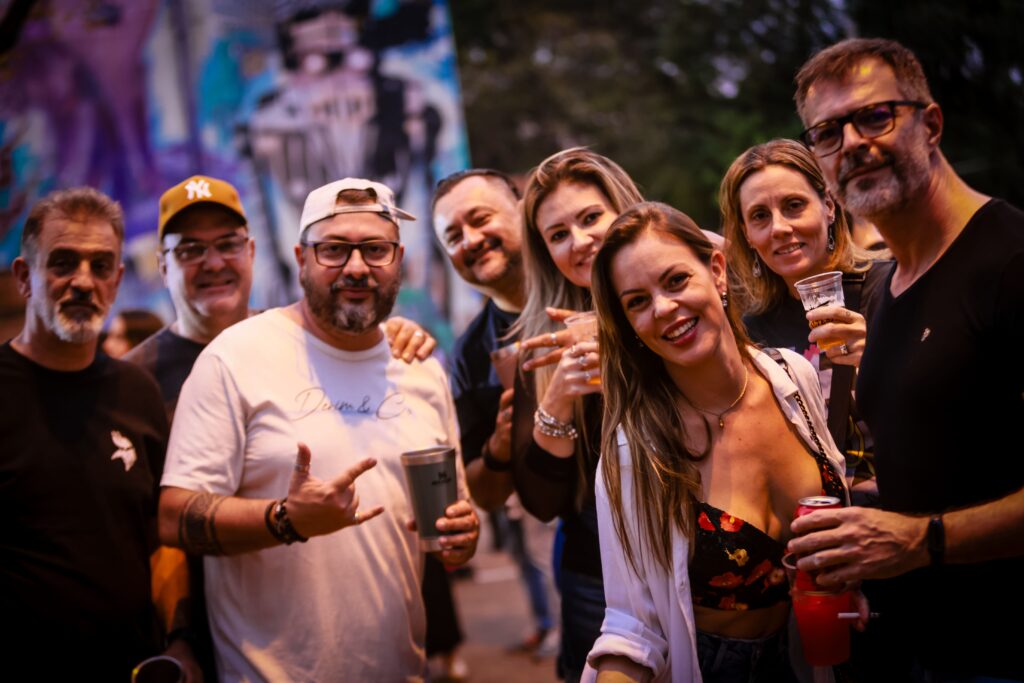
{"label": "blurred purple and blue graffiti mural behind the men", "polygon": [[118,305],[169,317],[157,202],[201,172],[239,187],[253,305],[281,305],[306,194],[354,175],[418,217],[399,312],[442,344],[475,312],[430,229],[436,179],[468,165],[444,0],[0,0],[0,267],[33,202],[93,185],[125,208]]}

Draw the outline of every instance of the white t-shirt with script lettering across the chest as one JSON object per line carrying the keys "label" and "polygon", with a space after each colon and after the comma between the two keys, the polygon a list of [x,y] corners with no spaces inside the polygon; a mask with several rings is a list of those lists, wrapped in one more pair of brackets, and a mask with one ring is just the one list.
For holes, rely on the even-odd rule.
{"label": "white t-shirt with script lettering across the chest", "polygon": [[[181,390],[162,484],[283,498],[296,443],[332,479],[366,457],[359,507],[384,514],[308,543],[207,556],[217,669],[230,681],[408,681],[424,671],[422,557],[399,455],[458,447],[437,360],[407,365],[386,341],[342,351],[281,309],[221,333]],[[459,464],[460,497],[466,497]]]}

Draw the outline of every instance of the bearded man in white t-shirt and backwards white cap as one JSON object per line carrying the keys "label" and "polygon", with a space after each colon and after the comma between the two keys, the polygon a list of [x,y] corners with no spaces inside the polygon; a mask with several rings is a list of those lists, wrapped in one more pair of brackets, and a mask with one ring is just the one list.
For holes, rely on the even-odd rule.
{"label": "bearded man in white t-shirt and backwards white cap", "polygon": [[[222,332],[182,388],[160,530],[206,555],[222,681],[423,675],[422,558],[398,456],[458,447],[459,433],[440,365],[393,358],[380,328],[400,283],[399,218],[412,217],[380,183],[310,193],[303,298]],[[437,521],[447,564],[479,533],[461,467],[459,484]]]}

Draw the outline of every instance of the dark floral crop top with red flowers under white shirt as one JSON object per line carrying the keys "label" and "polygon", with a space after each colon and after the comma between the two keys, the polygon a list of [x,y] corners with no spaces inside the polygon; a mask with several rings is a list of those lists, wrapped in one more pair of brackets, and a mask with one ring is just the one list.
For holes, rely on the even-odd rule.
{"label": "dark floral crop top with red flowers under white shirt", "polygon": [[[821,493],[843,499],[843,484],[821,454],[813,454]],[[697,503],[690,584],[693,604],[713,609],[759,609],[790,599],[782,568],[785,544],[708,503]]]}

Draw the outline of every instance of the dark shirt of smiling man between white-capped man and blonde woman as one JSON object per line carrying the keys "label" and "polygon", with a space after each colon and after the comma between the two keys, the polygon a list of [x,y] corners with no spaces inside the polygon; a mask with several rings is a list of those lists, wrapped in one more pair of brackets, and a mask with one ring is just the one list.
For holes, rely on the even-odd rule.
{"label": "dark shirt of smiling man between white-capped man and blonde woman", "polygon": [[480,457],[484,442],[495,432],[502,384],[490,352],[505,346],[503,339],[518,313],[502,310],[487,300],[483,309],[456,340],[452,352],[452,395],[462,440],[463,461],[468,465]]}

